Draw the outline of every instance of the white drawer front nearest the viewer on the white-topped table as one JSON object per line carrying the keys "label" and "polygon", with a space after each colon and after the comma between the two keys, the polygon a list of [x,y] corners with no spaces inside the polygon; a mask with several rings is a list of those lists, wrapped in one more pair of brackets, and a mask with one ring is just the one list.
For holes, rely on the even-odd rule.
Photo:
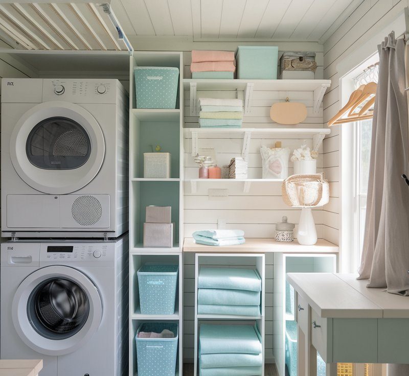
{"label": "white drawer front nearest the viewer on the white-topped table", "polygon": [[311,341],[324,362],[332,361],[332,319],[321,318],[311,310]]}

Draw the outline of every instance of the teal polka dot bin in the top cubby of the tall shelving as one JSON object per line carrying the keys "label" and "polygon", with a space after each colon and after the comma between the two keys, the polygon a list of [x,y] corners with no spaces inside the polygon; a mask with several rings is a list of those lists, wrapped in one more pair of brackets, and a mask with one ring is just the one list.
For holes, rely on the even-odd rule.
{"label": "teal polka dot bin in the top cubby of the tall shelving", "polygon": [[138,66],[134,68],[137,108],[175,108],[179,69]]}

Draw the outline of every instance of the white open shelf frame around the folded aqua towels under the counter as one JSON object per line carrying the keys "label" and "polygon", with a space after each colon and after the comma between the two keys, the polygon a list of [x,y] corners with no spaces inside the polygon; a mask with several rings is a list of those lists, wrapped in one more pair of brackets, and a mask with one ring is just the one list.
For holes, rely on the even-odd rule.
{"label": "white open shelf frame around the folded aqua towels under the counter", "polygon": [[[237,315],[198,315],[197,313],[197,290],[198,277],[201,266],[211,267],[235,267],[245,269],[256,269],[261,277],[261,314],[260,316],[237,316]],[[251,323],[255,322],[261,335],[261,345],[263,354],[263,373],[264,376],[264,327],[265,327],[265,255],[260,253],[196,253],[195,255],[195,329],[194,329],[194,376],[199,375],[198,364],[198,345],[200,322],[208,321],[212,324],[231,323]]]}

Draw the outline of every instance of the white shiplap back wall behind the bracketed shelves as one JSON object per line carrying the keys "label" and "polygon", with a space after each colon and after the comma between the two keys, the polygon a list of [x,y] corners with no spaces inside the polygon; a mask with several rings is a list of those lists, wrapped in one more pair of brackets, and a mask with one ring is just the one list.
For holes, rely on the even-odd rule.
{"label": "white shiplap back wall behind the bracketed shelves", "polygon": [[[281,43],[282,44],[282,43]],[[224,46],[219,43],[217,49],[234,50],[231,45]],[[316,60],[317,68],[315,78],[322,79],[323,72],[323,55],[321,53],[322,45],[316,44]],[[280,51],[291,51],[284,45],[280,45]],[[306,49],[303,49],[306,50]],[[279,53],[279,56],[281,53]],[[184,53],[184,77],[190,78],[190,52]],[[185,128],[194,128],[198,126],[198,117],[190,116],[190,101],[189,90],[185,90]],[[197,91],[197,97],[210,98],[242,98],[243,93],[236,91]],[[308,117],[301,125],[304,128],[322,128],[323,127],[323,109],[320,112],[313,114],[312,92],[305,91],[254,91],[252,112],[244,116],[243,128],[270,128],[280,127],[273,124],[269,111],[273,103],[280,102],[289,97],[290,100],[299,101],[307,106]],[[293,138],[291,138],[293,137]],[[291,152],[294,148],[299,147],[303,143],[303,139],[297,136],[286,136],[286,138],[278,139],[263,139],[260,136],[252,135],[251,144],[248,155],[248,177],[261,178],[262,164],[260,156],[260,146],[274,146],[276,140],[282,141],[283,147],[289,147]],[[306,140],[307,145],[312,147],[312,139]],[[214,147],[217,153],[217,163],[219,166],[227,165],[232,157],[240,156],[242,149],[243,138],[237,135],[224,136],[206,136],[199,138],[198,146]],[[185,151],[185,179],[198,177],[198,168],[191,155],[192,139],[190,135],[184,138]],[[323,149],[319,150],[320,156],[317,160],[318,171],[323,171]],[[289,173],[292,173],[292,162],[289,164]],[[208,189],[228,189],[229,196],[225,199],[212,199],[208,196]],[[288,221],[297,223],[300,218],[300,210],[287,206],[281,196],[281,183],[252,183],[248,193],[243,193],[243,183],[229,182],[226,184],[220,183],[197,183],[196,193],[191,193],[189,182],[185,182],[185,199],[184,199],[184,215],[185,215],[185,237],[191,237],[192,232],[199,229],[216,228],[218,219],[225,221],[226,228],[239,228],[244,230],[247,238],[272,238],[274,237],[275,224],[281,222],[283,216],[288,217]],[[323,210],[314,209],[313,216],[317,227],[319,238],[323,237]],[[274,361],[273,354],[273,255],[266,254],[266,289],[265,289],[265,358],[266,362]],[[194,347],[194,257],[193,255],[185,255],[185,361],[193,361]]]}

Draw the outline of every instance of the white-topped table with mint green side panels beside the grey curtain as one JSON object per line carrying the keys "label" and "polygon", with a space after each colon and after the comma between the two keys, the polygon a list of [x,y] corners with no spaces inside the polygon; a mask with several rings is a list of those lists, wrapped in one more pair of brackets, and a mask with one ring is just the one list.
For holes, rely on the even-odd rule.
{"label": "white-topped table with mint green side panels beside the grey curtain", "polygon": [[355,274],[288,273],[296,290],[298,376],[316,375],[316,351],[336,363],[409,363],[409,297],[368,289]]}

